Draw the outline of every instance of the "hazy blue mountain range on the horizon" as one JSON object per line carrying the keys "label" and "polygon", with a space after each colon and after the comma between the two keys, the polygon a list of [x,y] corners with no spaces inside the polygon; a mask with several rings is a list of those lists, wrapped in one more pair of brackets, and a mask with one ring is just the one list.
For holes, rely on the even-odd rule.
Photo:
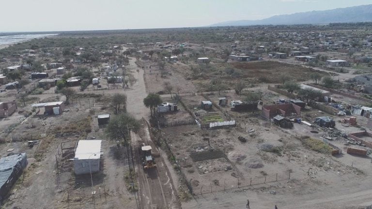
{"label": "hazy blue mountain range on the horizon", "polygon": [[275,15],[261,20],[227,21],[210,26],[297,25],[370,21],[372,21],[372,4],[324,11],[294,13],[291,15]]}

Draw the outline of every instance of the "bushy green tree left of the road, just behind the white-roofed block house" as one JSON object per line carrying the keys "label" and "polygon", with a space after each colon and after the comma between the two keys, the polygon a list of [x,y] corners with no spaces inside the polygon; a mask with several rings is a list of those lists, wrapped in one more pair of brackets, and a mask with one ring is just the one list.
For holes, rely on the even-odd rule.
{"label": "bushy green tree left of the road, just behind the white-roofed block house", "polygon": [[130,132],[137,133],[140,123],[128,113],[121,113],[110,118],[105,133],[112,140],[124,140],[125,146],[130,138]]}

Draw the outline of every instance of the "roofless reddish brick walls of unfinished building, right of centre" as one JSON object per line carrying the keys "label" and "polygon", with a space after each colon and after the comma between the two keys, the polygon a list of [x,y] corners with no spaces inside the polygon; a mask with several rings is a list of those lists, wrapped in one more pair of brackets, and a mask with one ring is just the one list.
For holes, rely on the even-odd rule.
{"label": "roofless reddish brick walls of unfinished building, right of centre", "polygon": [[292,113],[300,116],[301,107],[293,103],[289,104],[274,104],[262,107],[262,117],[269,120],[276,115],[282,115],[284,117],[292,116]]}

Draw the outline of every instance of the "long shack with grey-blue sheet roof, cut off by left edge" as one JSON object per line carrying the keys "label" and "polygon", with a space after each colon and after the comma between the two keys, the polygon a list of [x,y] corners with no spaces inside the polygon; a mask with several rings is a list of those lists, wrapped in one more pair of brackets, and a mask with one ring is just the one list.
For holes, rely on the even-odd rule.
{"label": "long shack with grey-blue sheet roof, cut off by left edge", "polygon": [[4,200],[27,164],[26,152],[0,159],[0,201]]}

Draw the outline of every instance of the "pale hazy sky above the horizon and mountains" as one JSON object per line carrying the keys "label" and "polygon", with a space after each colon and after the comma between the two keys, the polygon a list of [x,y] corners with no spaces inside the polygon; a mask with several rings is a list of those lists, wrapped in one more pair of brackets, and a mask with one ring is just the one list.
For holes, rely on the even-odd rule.
{"label": "pale hazy sky above the horizon and mountains", "polygon": [[371,3],[372,0],[1,0],[0,31],[198,27]]}

